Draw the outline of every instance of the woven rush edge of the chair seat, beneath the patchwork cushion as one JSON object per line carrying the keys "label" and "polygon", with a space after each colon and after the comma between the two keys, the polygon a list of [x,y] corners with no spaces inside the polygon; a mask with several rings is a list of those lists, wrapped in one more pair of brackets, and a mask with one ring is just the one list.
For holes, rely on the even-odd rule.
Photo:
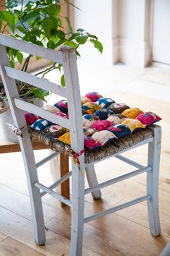
{"label": "woven rush edge of the chair seat, beneath the patchwork cushion", "polygon": [[[45,145],[48,145],[52,150],[57,150],[59,153],[66,155],[70,154],[70,145],[67,145],[66,143],[61,142],[60,140],[57,140],[41,131],[29,129],[29,132],[32,140],[39,140],[40,142],[45,143]],[[107,145],[104,145],[103,148],[98,148],[96,150],[85,150],[85,163],[100,161],[109,157],[110,155],[115,155],[116,153],[120,153],[123,150],[131,148],[151,137],[153,137],[153,132],[151,129],[149,129],[149,127],[147,127],[146,129],[141,129],[134,134],[119,138],[113,142],[109,142]]]}

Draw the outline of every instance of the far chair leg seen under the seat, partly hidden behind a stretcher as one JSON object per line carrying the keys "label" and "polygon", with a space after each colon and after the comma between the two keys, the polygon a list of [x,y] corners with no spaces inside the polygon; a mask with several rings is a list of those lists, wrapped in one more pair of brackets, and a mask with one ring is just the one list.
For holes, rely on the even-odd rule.
{"label": "far chair leg seen under the seat, partly hidden behind a stretcher", "polygon": [[[94,164],[91,164],[90,166],[86,167],[86,179],[89,183],[89,187],[94,187],[98,184],[97,182],[97,175],[95,172]],[[95,200],[98,200],[102,197],[102,193],[99,189],[95,190],[91,193],[92,197]]]}

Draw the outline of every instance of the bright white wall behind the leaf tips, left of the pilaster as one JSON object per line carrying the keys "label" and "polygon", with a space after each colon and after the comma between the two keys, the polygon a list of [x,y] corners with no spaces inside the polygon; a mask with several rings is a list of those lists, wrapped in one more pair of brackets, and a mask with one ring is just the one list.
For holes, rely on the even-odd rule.
{"label": "bright white wall behind the leaf tips, left of the pilaster", "polygon": [[91,43],[81,47],[81,59],[86,61],[112,64],[112,0],[74,0],[75,28],[84,28],[87,32],[97,35],[104,46],[101,55]]}

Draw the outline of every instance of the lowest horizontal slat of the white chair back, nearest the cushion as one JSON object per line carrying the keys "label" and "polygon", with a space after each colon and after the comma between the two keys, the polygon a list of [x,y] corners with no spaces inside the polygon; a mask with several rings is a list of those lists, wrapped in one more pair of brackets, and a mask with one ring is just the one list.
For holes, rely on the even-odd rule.
{"label": "lowest horizontal slat of the white chair back, nearest the cushion", "polygon": [[37,116],[41,116],[48,121],[52,121],[54,124],[60,124],[63,127],[70,129],[70,121],[69,119],[65,119],[62,116],[56,116],[55,114],[50,113],[49,111],[44,110],[38,106],[35,106],[32,103],[28,103],[26,101],[22,101],[18,98],[14,98],[15,106],[24,111],[28,111]]}

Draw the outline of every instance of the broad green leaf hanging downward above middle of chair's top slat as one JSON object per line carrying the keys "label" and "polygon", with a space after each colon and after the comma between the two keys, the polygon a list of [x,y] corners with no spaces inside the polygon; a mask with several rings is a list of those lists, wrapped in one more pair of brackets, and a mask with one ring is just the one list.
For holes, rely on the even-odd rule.
{"label": "broad green leaf hanging downward above middle of chair's top slat", "polygon": [[50,39],[52,35],[57,33],[58,21],[54,17],[46,17],[42,22],[42,27],[47,38]]}

